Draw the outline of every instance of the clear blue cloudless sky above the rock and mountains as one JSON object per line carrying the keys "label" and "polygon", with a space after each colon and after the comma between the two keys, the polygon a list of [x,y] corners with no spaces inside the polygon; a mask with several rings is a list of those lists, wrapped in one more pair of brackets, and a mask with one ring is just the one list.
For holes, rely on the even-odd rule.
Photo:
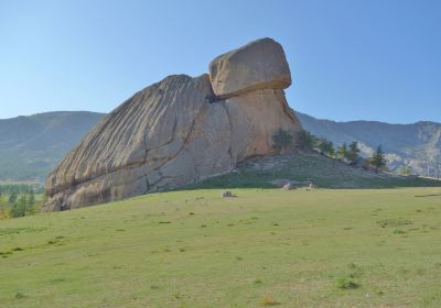
{"label": "clear blue cloudless sky above the rock and mountains", "polygon": [[438,0],[0,0],[0,119],[108,112],[265,36],[284,47],[295,110],[441,122]]}

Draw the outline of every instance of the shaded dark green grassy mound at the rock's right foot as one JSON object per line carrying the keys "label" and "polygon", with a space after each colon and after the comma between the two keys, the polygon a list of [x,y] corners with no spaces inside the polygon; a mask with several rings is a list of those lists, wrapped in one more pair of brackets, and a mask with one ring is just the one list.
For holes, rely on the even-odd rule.
{"label": "shaded dark green grassy mound at the rock's right foot", "polygon": [[435,179],[375,174],[316,153],[290,153],[249,160],[236,172],[189,185],[185,189],[273,188],[271,182],[280,178],[311,182],[322,188],[441,187],[441,182]]}

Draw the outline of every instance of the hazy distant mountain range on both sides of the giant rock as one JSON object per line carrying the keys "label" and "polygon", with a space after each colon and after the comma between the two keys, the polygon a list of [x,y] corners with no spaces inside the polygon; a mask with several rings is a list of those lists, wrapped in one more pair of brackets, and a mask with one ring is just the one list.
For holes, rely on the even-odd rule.
{"label": "hazy distant mountain range on both sides of the giant rock", "polygon": [[[358,141],[368,156],[381,144],[389,167],[410,165],[421,175],[441,168],[441,123],[335,122],[297,112],[303,128],[335,145]],[[60,111],[0,120],[0,179],[40,179],[75,146],[105,113]]]}

